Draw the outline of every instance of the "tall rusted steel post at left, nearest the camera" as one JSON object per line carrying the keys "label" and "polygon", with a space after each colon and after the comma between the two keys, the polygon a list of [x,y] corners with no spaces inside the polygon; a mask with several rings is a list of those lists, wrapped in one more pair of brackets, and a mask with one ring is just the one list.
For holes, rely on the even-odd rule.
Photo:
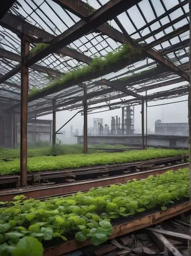
{"label": "tall rusted steel post at left, nearest the camera", "polygon": [[21,38],[21,90],[20,90],[20,184],[27,186],[27,117],[29,68],[26,55],[29,54],[30,42]]}

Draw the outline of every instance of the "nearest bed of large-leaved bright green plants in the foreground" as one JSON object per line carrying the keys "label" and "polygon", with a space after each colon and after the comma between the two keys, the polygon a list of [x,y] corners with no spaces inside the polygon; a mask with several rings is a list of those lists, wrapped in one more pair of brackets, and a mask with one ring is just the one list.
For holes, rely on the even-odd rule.
{"label": "nearest bed of large-leaved bright green plants in the foreground", "polygon": [[[45,201],[16,196],[0,209],[0,255],[42,255],[43,244],[74,237],[99,245],[112,234],[112,220],[189,198],[188,168],[125,184]],[[7,202],[1,202],[7,204]],[[38,249],[37,249],[38,248]]]}

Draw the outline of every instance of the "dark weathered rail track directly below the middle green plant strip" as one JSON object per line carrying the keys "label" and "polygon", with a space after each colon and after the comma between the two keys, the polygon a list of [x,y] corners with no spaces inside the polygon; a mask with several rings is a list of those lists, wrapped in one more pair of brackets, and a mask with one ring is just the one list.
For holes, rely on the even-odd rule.
{"label": "dark weathered rail track directly below the middle green plant strip", "polygon": [[[57,183],[63,183],[65,179],[69,177],[77,177],[77,180],[85,180],[90,178],[98,178],[103,175],[118,175],[124,172],[136,172],[136,169],[145,170],[157,167],[159,165],[176,164],[177,162],[185,161],[188,156],[175,156],[175,157],[165,157],[159,159],[152,159],[147,161],[139,161],[132,163],[121,163],[121,164],[109,164],[109,165],[99,165],[99,166],[89,166],[83,168],[75,169],[65,169],[65,170],[53,170],[30,173],[27,175],[28,184],[40,183],[41,180],[56,180]],[[19,175],[6,175],[1,176],[0,184],[20,184]]]}

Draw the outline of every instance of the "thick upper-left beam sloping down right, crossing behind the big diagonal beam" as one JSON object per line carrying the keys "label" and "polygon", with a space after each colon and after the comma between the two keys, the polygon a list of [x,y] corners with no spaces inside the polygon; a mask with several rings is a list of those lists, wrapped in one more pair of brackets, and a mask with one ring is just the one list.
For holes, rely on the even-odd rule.
{"label": "thick upper-left beam sloping down right, crossing behind the big diagonal beam", "polygon": [[[0,24],[11,30],[13,33],[16,33],[17,35],[25,34],[28,38],[31,38],[31,41],[35,42],[47,42],[51,43],[56,36],[46,32],[43,29],[40,29],[38,27],[35,27],[34,25],[26,22],[26,20],[20,19],[18,16],[12,14],[12,13],[6,13],[4,18],[0,20]],[[34,37],[35,36],[35,37]],[[36,38],[37,37],[37,38]],[[37,41],[38,40],[38,41]],[[75,58],[81,62],[89,64],[91,62],[91,58],[86,56],[85,54],[78,52],[75,49],[71,49],[69,47],[64,47],[62,49],[59,49],[59,54],[70,56],[72,58]]]}

